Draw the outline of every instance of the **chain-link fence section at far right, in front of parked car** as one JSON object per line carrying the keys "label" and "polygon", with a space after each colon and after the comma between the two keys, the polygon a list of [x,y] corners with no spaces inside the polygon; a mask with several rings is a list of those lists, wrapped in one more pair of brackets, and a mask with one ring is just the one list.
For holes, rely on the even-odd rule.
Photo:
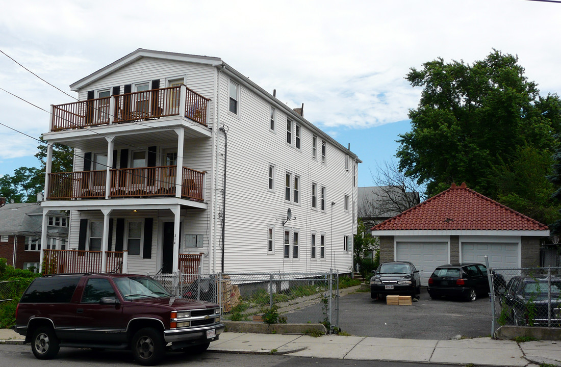
{"label": "chain-link fence section at far right, in front of parked car", "polygon": [[561,267],[490,272],[493,332],[501,325],[561,327]]}

